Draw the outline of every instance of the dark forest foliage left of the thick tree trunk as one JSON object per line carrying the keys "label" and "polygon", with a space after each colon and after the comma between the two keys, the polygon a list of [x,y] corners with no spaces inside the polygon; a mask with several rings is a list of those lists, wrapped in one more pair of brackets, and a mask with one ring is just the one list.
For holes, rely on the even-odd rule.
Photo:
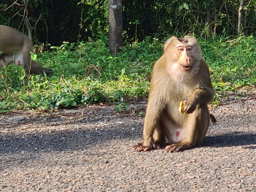
{"label": "dark forest foliage left of the thick tree trunk", "polygon": [[[23,31],[23,19],[32,16],[32,38],[59,45],[63,41],[77,42],[90,38],[104,38],[108,26],[106,0],[2,0],[0,24]],[[106,34],[105,34],[106,35]]]}

